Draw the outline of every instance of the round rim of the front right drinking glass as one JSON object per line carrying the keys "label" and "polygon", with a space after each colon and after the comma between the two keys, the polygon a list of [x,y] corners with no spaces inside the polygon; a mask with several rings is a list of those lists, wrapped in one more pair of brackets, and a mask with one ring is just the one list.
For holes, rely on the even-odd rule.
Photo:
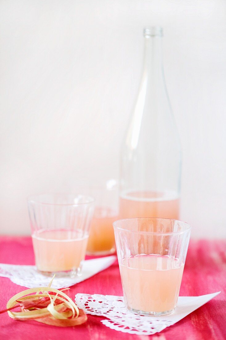
{"label": "round rim of the front right drinking glass", "polygon": [[[131,229],[128,229],[128,228],[121,228],[121,227],[117,227],[116,226],[116,223],[119,222],[119,221],[128,221],[128,220],[148,220],[148,219],[155,219],[155,220],[169,220],[169,221],[177,221],[177,222],[183,222],[185,223],[188,228],[183,230],[183,231],[178,231],[178,232],[166,232],[166,233],[160,233],[160,232],[149,232],[149,231],[133,231]],[[190,232],[191,231],[191,225],[185,221],[182,221],[182,220],[176,220],[176,219],[173,219],[173,218],[161,218],[161,217],[131,217],[131,218],[123,218],[123,219],[120,219],[120,220],[117,220],[115,222],[113,222],[113,227],[114,229],[116,230],[123,230],[125,232],[129,232],[129,233],[136,233],[136,234],[153,234],[153,235],[181,235],[181,234],[185,234],[187,232]]]}

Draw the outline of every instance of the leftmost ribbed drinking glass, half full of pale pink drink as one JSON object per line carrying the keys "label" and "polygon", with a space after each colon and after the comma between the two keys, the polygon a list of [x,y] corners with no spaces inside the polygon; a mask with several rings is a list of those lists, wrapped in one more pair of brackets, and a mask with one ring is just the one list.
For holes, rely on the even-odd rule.
{"label": "leftmost ribbed drinking glass, half full of pale pink drink", "polygon": [[80,275],[86,255],[94,199],[43,194],[28,198],[35,263],[46,275]]}

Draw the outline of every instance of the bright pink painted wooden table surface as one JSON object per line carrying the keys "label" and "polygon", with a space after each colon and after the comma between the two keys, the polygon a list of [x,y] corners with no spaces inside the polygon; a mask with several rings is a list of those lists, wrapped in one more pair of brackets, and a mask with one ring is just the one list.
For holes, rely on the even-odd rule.
{"label": "bright pink painted wooden table surface", "polygon": [[[203,295],[221,291],[213,300],[197,309],[173,326],[152,336],[138,336],[117,332],[100,323],[103,317],[89,316],[87,323],[77,327],[54,327],[35,321],[15,321],[7,313],[0,315],[1,340],[222,340],[226,339],[226,240],[191,241],[189,245],[181,296]],[[0,263],[34,264],[30,237],[0,237]],[[14,294],[26,289],[10,279],[0,277],[0,310]],[[118,264],[71,287],[76,293],[122,295]]]}

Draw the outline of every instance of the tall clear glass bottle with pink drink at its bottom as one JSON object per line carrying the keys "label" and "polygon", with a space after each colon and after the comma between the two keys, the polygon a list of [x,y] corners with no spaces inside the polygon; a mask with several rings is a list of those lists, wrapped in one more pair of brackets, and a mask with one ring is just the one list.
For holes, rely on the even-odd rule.
{"label": "tall clear glass bottle with pink drink at its bottom", "polygon": [[161,27],[144,29],[144,67],[121,150],[120,218],[179,218],[181,146],[163,70]]}

